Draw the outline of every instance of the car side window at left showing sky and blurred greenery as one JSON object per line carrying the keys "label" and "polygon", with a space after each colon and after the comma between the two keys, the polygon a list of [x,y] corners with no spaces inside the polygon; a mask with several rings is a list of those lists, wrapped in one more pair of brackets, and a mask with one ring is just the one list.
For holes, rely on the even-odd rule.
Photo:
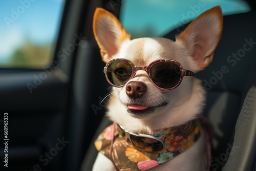
{"label": "car side window at left showing sky and blurred greenery", "polygon": [[48,65],[58,35],[63,0],[0,1],[0,67]]}

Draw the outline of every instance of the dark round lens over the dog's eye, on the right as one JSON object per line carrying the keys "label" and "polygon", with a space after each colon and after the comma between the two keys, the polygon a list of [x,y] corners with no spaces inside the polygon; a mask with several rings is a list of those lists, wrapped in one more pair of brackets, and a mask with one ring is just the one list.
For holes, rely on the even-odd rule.
{"label": "dark round lens over the dog's eye, on the right", "polygon": [[170,89],[179,83],[181,70],[175,63],[159,62],[152,66],[150,75],[158,87]]}

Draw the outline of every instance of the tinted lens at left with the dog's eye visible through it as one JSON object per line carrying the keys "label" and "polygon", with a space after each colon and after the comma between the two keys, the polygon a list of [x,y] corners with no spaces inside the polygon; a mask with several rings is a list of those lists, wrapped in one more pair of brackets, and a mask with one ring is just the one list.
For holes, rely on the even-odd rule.
{"label": "tinted lens at left with the dog's eye visible through it", "polygon": [[111,83],[122,86],[132,76],[132,66],[127,61],[114,61],[109,65],[106,75]]}

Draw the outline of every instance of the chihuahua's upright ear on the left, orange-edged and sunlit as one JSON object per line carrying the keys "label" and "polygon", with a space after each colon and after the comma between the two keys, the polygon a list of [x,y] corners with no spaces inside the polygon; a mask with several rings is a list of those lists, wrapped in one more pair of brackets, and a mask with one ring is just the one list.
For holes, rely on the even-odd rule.
{"label": "chihuahua's upright ear on the left, orange-edged and sunlit", "polygon": [[94,13],[93,33],[104,62],[112,59],[124,40],[131,38],[118,19],[102,8],[97,8]]}

